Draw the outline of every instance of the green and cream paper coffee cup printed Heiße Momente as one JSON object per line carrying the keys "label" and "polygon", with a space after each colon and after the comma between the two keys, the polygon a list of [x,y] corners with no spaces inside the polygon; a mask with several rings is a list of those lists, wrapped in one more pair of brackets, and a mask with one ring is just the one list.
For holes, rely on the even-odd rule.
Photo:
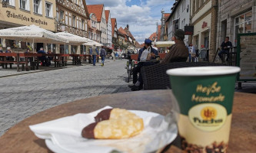
{"label": "green and cream paper coffee cup printed Hei\u00dfe Momente", "polygon": [[187,152],[227,152],[234,83],[239,67],[168,70],[178,101],[178,132]]}

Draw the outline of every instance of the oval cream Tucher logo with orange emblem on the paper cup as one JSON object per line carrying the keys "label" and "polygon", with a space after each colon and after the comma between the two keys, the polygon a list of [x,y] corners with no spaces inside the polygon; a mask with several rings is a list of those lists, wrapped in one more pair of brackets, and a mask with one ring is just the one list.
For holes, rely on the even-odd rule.
{"label": "oval cream Tucher logo with orange emblem on the paper cup", "polygon": [[215,103],[200,104],[188,111],[191,123],[198,129],[214,131],[224,124],[227,111],[224,106]]}

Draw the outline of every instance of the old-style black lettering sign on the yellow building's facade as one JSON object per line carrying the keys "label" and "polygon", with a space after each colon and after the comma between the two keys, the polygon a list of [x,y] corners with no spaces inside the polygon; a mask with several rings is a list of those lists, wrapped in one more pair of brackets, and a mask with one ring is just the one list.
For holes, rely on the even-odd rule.
{"label": "old-style black lettering sign on the yellow building's facade", "polygon": [[6,15],[7,15],[8,18],[17,18],[17,19],[22,20],[22,21],[30,21],[30,22],[36,23],[36,24],[44,24],[44,25],[48,24],[46,21],[42,21],[41,19],[32,18],[32,17],[29,18],[25,15],[12,13],[11,11],[6,11]]}

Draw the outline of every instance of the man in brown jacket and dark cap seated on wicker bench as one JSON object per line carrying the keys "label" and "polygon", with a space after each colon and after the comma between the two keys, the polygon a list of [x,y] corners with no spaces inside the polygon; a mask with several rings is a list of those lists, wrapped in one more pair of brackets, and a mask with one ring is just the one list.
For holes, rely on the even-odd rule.
{"label": "man in brown jacket and dark cap seated on wicker bench", "polygon": [[160,63],[172,63],[172,62],[186,62],[188,59],[188,48],[184,43],[185,32],[181,29],[175,31],[172,40],[175,44],[169,47],[168,54]]}

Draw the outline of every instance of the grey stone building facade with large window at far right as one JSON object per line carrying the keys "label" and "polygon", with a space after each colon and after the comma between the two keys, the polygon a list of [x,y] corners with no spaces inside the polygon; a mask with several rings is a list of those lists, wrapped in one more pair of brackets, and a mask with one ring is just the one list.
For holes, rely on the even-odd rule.
{"label": "grey stone building facade with large window at far right", "polygon": [[224,37],[230,37],[237,46],[238,34],[256,32],[256,1],[219,1],[217,29],[216,47],[221,46]]}

